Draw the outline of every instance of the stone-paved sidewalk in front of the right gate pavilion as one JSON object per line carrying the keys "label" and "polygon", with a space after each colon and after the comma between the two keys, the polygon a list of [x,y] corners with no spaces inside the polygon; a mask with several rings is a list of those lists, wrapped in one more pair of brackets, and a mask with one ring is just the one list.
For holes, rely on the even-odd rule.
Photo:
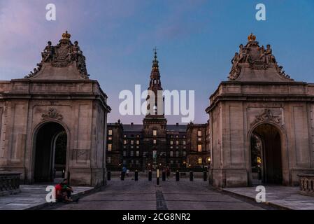
{"label": "stone-paved sidewalk in front of the right gate pavilion", "polygon": [[[225,192],[242,195],[255,200],[256,188],[224,188]],[[314,197],[300,195],[299,187],[265,186],[266,203],[283,207],[285,209],[311,209],[314,210]]]}

